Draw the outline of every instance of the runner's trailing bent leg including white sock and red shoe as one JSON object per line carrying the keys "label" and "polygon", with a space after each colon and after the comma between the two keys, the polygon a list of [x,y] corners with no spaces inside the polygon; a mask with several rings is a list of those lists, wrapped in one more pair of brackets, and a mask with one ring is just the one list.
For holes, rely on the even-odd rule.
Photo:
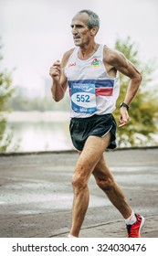
{"label": "runner's trailing bent leg including white sock and red shoe", "polygon": [[106,193],[107,197],[111,200],[111,203],[121,212],[121,215],[125,219],[127,225],[128,237],[141,237],[144,218],[139,214],[134,214],[127,204],[121,188],[114,181],[111,171],[106,165],[103,155],[95,166],[92,174],[95,177],[98,186],[104,191],[104,193]]}

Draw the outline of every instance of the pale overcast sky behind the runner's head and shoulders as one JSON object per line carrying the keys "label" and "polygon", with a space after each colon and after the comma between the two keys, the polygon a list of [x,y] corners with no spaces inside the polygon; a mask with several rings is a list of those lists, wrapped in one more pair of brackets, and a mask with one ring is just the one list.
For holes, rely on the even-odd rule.
{"label": "pale overcast sky behind the runner's head and shoulders", "polygon": [[16,84],[43,93],[50,65],[74,46],[70,23],[83,8],[100,16],[97,42],[112,48],[130,36],[142,61],[158,59],[157,0],[0,0],[3,67],[16,68]]}

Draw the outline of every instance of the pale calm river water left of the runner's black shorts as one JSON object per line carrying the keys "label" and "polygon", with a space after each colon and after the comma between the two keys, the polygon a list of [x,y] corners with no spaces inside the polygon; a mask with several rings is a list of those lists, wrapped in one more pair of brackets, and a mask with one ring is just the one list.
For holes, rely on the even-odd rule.
{"label": "pale calm river water left of the runner's black shorts", "polygon": [[73,149],[68,112],[11,112],[8,127],[14,134],[9,151],[56,151]]}

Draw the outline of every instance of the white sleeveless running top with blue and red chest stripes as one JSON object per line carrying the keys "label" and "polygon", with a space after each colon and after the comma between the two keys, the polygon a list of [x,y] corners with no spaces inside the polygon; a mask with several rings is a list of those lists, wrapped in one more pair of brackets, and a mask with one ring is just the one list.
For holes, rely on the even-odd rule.
{"label": "white sleeveless running top with blue and red chest stripes", "polygon": [[115,110],[119,96],[119,72],[115,78],[108,76],[103,64],[103,45],[90,57],[78,58],[79,48],[75,48],[64,69],[68,78],[71,99],[70,117],[90,117]]}

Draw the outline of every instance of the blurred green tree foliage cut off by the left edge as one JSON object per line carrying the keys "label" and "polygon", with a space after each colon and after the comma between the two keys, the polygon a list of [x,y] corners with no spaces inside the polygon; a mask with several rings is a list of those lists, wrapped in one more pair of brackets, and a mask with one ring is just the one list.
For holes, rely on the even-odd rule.
{"label": "blurred green tree foliage cut off by the left edge", "polygon": [[[2,46],[0,46],[0,49]],[[0,61],[2,60],[2,56],[0,55]],[[8,131],[6,129],[6,118],[4,116],[4,112],[8,112],[9,110],[5,108],[5,103],[10,99],[14,92],[14,88],[12,85],[11,71],[7,71],[6,69],[0,71],[0,152],[6,152],[8,146],[12,142],[13,133],[12,131]]]}

